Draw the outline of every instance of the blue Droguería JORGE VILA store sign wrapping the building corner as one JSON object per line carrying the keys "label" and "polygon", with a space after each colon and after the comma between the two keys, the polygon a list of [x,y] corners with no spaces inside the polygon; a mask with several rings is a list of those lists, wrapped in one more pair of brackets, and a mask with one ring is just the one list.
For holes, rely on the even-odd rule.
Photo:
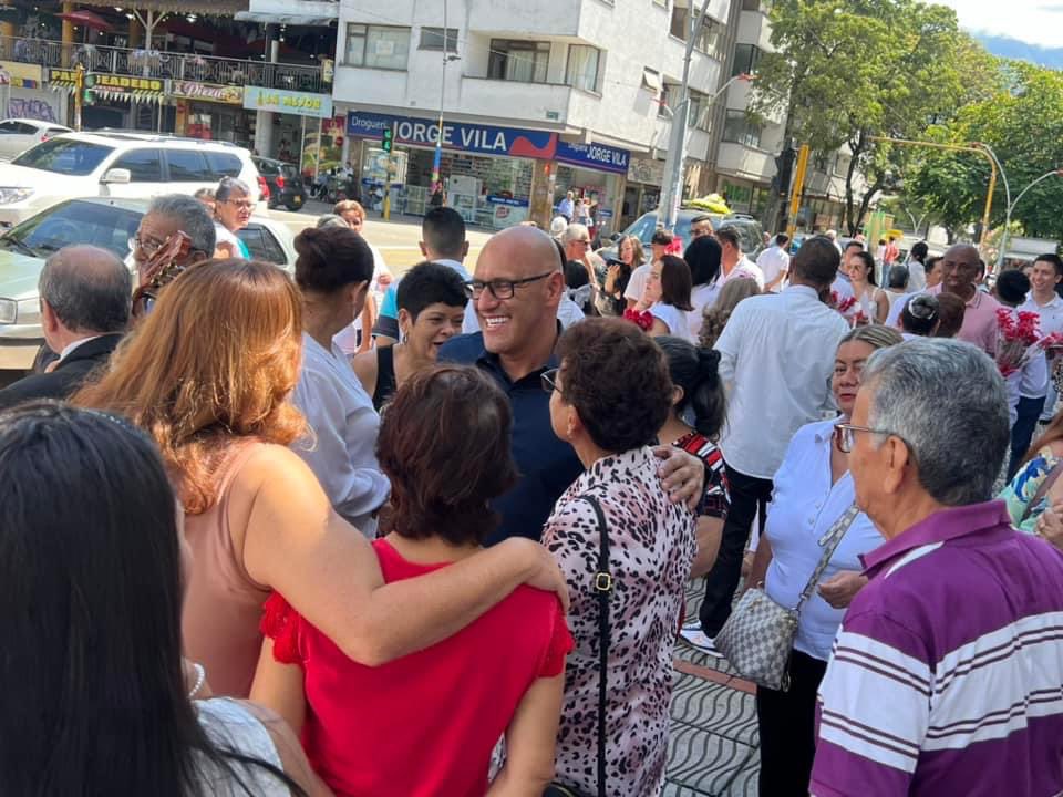
{"label": "blue Droguer\u00eda JORGE VILA store sign wrapping the building corner", "polygon": [[[351,111],[347,115],[347,134],[357,138],[380,138],[384,130],[394,127],[400,144],[435,146],[438,124],[432,120],[393,116],[391,114]],[[557,159],[601,172],[627,174],[629,153],[603,144],[566,144],[556,133],[495,127],[492,125],[451,122],[443,124],[443,146],[447,149],[479,155]]]}

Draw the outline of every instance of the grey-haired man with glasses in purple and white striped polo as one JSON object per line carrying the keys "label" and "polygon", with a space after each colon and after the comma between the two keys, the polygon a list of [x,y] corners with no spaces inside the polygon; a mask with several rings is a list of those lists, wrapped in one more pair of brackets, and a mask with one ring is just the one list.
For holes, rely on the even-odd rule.
{"label": "grey-haired man with glasses in purple and white striped polo", "polygon": [[1008,453],[993,362],[920,340],[867,363],[852,424],[864,557],[819,687],[816,797],[1063,793],[1063,553],[990,500]]}

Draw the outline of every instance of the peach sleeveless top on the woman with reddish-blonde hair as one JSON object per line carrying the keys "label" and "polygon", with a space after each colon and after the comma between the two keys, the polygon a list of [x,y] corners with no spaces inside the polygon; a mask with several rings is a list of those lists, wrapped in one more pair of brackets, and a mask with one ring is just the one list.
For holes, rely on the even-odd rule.
{"label": "peach sleeveless top on the woman with reddish-blonde hair", "polygon": [[268,444],[256,441],[239,446],[217,474],[220,487],[214,506],[202,515],[185,515],[185,537],[193,551],[182,615],[185,655],[206,667],[207,682],[218,696],[248,696],[262,645],[258,624],[270,589],[244,568],[228,507],[234,478],[264,445]]}

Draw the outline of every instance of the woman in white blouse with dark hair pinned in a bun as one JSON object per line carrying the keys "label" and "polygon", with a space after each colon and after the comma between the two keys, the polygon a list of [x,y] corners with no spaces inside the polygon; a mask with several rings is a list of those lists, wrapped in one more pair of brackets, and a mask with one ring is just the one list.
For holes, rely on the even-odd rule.
{"label": "woman in white blouse with dark hair pinned in a bun", "polygon": [[391,486],[376,462],[380,416],[347,356],[332,342],[358,317],[373,277],[373,253],[343,227],[306,229],[296,238],[302,289],[302,370],[293,401],[311,439],[293,445],[337,514],[369,538]]}

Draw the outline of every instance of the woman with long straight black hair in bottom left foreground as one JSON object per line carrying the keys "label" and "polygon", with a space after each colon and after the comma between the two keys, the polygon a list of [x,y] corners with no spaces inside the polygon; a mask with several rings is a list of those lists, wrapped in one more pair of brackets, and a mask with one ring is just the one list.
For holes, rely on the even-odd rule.
{"label": "woman with long straight black hair in bottom left foreground", "polygon": [[0,676],[18,685],[0,712],[0,794],[317,794],[285,723],[208,700],[182,659],[193,563],[147,435],[24,404],[0,414],[0,468],[18,474],[0,482]]}

